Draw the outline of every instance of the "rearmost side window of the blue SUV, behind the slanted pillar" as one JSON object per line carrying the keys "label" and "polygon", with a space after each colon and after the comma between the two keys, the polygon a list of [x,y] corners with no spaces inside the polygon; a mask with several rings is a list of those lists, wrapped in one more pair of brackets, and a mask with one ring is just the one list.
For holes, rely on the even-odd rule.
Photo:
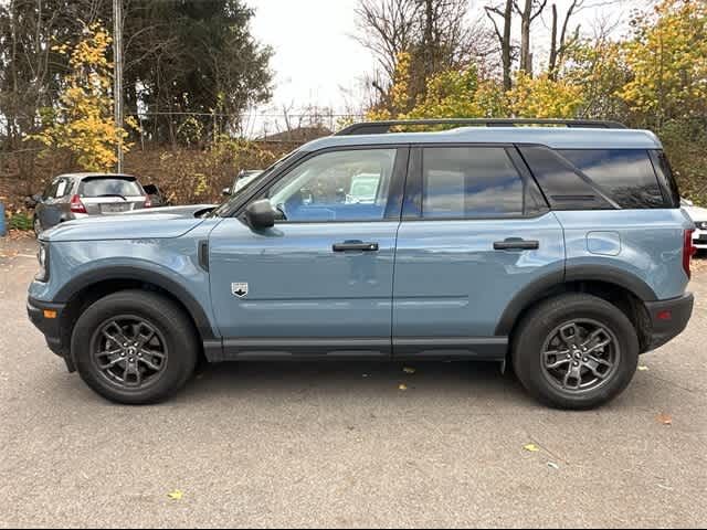
{"label": "rearmost side window of the blue SUV, behind the slanted pillar", "polygon": [[621,208],[666,208],[645,149],[568,149],[559,152]]}

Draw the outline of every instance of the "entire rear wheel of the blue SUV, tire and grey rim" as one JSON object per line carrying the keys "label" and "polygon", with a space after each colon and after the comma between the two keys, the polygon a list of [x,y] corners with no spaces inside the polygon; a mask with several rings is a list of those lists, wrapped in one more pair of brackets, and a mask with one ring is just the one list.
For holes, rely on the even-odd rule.
{"label": "entire rear wheel of the blue SUV, tire and grey rim", "polygon": [[561,295],[540,303],[520,321],[513,364],[525,389],[540,402],[564,410],[594,409],[633,379],[639,338],[623,311],[606,300]]}

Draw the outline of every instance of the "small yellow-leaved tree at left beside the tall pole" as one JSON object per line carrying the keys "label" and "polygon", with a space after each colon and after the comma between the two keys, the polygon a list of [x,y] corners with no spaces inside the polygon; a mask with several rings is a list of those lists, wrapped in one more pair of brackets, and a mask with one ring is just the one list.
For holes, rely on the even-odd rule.
{"label": "small yellow-leaved tree at left beside the tall pole", "polygon": [[70,73],[63,81],[59,104],[48,109],[45,127],[33,136],[52,149],[68,149],[86,171],[109,171],[117,161],[118,145],[127,132],[115,126],[110,97],[112,67],[108,32],[97,23],[83,30],[83,39],[68,53],[68,44],[53,51],[67,54]]}

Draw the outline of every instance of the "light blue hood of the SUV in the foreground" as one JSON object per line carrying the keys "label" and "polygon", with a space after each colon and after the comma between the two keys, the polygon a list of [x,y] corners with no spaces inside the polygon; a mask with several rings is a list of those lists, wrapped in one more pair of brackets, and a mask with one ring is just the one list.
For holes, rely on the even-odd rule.
{"label": "light blue hood of the SUV in the foreground", "polygon": [[197,216],[210,204],[140,210],[117,215],[95,215],[62,223],[40,236],[42,241],[106,241],[179,237],[203,222]]}

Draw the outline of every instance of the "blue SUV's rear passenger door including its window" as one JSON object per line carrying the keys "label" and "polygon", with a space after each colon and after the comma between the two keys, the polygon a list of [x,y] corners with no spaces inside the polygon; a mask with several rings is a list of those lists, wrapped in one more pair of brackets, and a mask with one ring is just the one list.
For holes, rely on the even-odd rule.
{"label": "blue SUV's rear passenger door including its window", "polygon": [[411,157],[393,354],[502,359],[507,309],[529,284],[562,278],[562,229],[513,146],[430,146]]}

